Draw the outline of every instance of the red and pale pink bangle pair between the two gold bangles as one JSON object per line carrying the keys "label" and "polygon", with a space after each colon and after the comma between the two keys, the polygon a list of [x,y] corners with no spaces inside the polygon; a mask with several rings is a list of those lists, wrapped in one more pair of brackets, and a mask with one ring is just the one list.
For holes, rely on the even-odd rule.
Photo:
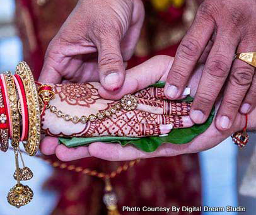
{"label": "red and pale pink bangle pair between the two gold bangles", "polygon": [[22,132],[20,141],[26,141],[28,139],[28,105],[26,101],[26,93],[23,82],[18,74],[13,76],[16,87],[18,89],[18,94],[20,96],[20,105],[22,110]]}

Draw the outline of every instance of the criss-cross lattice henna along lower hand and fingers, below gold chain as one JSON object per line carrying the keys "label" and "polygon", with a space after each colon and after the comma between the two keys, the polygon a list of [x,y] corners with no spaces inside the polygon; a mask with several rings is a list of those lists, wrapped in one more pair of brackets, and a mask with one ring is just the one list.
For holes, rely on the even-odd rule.
{"label": "criss-cross lattice henna along lower hand and fingers, below gold chain", "polygon": [[[183,121],[185,120],[185,123]],[[91,122],[95,130],[92,136],[158,136],[161,134],[160,125],[173,125],[175,128],[190,127],[193,122],[189,116],[159,115],[141,110],[125,112],[120,110],[111,118]],[[84,132],[83,137],[90,134]]]}

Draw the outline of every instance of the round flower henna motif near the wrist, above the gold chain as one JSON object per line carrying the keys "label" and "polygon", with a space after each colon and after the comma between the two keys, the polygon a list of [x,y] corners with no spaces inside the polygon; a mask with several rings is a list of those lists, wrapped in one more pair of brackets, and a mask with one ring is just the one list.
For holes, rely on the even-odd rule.
{"label": "round flower henna motif near the wrist, above the gold chain", "polygon": [[55,84],[54,91],[61,98],[61,102],[67,102],[69,105],[90,107],[101,98],[98,90],[90,83]]}

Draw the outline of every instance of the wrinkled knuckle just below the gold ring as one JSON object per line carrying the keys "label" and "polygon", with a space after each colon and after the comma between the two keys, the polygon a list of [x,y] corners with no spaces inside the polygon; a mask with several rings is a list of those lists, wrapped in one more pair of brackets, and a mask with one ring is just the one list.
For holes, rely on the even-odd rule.
{"label": "wrinkled knuckle just below the gold ring", "polygon": [[248,87],[252,83],[253,69],[250,67],[237,67],[231,73],[230,81],[233,85]]}

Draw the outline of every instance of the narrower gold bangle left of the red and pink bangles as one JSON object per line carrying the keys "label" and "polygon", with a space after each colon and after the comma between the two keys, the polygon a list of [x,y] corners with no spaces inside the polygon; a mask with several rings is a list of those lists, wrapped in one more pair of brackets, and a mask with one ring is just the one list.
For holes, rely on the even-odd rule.
{"label": "narrower gold bangle left of the red and pink bangles", "polygon": [[20,144],[20,115],[17,105],[16,85],[11,72],[6,72],[4,74],[4,78],[6,80],[7,95],[9,100],[9,118],[12,122],[11,146],[16,149]]}

